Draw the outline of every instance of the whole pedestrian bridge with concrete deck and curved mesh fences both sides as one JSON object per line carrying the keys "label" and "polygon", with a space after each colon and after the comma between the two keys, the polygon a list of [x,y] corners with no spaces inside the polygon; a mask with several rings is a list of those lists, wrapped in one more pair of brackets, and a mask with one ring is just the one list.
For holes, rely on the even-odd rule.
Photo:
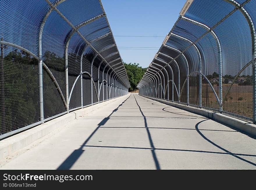
{"label": "whole pedestrian bridge with concrete deck and curved mesh fences both sides", "polygon": [[255,7],[187,0],[136,94],[101,0],[0,0],[1,169],[256,169]]}

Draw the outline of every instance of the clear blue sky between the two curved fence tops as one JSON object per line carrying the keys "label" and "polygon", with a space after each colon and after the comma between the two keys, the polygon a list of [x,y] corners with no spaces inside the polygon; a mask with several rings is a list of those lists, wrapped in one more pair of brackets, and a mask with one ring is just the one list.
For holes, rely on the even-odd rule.
{"label": "clear blue sky between the two curved fence tops", "polygon": [[[147,67],[178,19],[185,2],[186,0],[102,0],[122,59],[126,63],[139,63],[140,66]],[[122,47],[152,48],[134,50]]]}

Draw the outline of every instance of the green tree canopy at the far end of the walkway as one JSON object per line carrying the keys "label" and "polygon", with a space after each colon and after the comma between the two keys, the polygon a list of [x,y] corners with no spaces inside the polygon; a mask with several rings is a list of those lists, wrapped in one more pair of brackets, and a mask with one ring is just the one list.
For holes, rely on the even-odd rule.
{"label": "green tree canopy at the far end of the walkway", "polygon": [[124,65],[128,75],[129,82],[131,84],[129,91],[134,91],[138,83],[141,81],[141,78],[143,77],[147,68],[140,67],[138,63],[127,64],[124,62]]}

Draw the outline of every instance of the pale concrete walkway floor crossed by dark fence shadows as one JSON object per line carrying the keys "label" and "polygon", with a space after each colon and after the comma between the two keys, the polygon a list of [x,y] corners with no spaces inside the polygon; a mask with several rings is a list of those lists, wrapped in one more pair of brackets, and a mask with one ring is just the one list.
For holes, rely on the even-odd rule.
{"label": "pale concrete walkway floor crossed by dark fence shadows", "polygon": [[1,169],[256,169],[256,140],[130,94],[1,160]]}

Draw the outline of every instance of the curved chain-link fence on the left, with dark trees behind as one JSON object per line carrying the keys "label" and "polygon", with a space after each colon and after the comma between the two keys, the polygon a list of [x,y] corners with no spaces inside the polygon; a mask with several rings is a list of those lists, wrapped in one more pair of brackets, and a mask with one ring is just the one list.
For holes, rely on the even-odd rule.
{"label": "curved chain-link fence on the left, with dark trees behind", "polygon": [[0,139],[128,93],[100,0],[0,0]]}

